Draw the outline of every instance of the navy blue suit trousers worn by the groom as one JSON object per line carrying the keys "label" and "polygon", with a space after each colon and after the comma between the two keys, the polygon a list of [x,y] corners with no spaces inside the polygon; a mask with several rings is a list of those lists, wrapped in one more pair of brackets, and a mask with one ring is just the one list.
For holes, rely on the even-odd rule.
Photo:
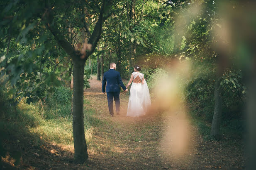
{"label": "navy blue suit trousers worn by the groom", "polygon": [[119,94],[120,92],[107,92],[108,110],[110,111],[111,115],[114,115],[113,99],[115,100],[115,104],[116,104],[116,112],[119,112],[119,108],[120,108]]}

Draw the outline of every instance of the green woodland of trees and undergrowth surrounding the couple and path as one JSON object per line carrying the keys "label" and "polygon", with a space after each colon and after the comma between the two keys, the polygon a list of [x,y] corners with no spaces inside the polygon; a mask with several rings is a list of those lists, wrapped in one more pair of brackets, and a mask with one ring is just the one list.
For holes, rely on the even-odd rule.
{"label": "green woodland of trees and undergrowth surrounding the couple and path", "polygon": [[254,168],[254,7],[238,0],[0,0],[2,160],[19,166],[24,151],[10,143],[25,138],[39,146],[37,135],[74,145],[74,160],[84,163],[96,120],[83,92],[115,62],[124,84],[139,64],[152,103],[159,95],[170,106],[182,103],[204,140],[245,142],[247,152],[244,143],[237,147]]}

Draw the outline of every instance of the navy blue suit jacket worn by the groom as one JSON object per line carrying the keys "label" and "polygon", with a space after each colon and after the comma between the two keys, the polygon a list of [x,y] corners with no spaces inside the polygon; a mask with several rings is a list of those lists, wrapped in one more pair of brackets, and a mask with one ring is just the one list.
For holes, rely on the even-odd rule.
{"label": "navy blue suit jacket worn by the groom", "polygon": [[105,88],[106,92],[120,92],[119,85],[122,87],[123,90],[126,90],[126,87],[124,86],[124,83],[122,82],[120,73],[118,71],[110,69],[109,71],[104,73],[102,80],[102,92],[105,92]]}

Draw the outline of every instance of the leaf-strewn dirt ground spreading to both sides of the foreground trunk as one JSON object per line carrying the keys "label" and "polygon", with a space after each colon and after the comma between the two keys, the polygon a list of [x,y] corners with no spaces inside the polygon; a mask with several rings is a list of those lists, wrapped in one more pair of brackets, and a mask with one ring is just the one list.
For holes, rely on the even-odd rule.
{"label": "leaf-strewn dirt ground spreading to both sides of the foreground trunk", "polygon": [[[73,161],[73,145],[54,144],[36,134],[6,141],[8,150],[21,150],[21,164],[6,158],[3,169],[230,169],[245,168],[241,138],[203,140],[188,115],[153,112],[139,118],[126,116],[129,96],[120,93],[120,116],[111,117],[101,82],[90,80],[85,94],[85,119],[93,135],[87,141],[88,164]],[[114,104],[115,107],[115,104]],[[89,115],[90,116],[87,116]],[[224,135],[223,135],[224,136]],[[34,140],[41,141],[35,146]],[[18,142],[17,142],[18,141]],[[8,143],[9,142],[9,143]],[[10,146],[10,147],[9,147]],[[183,147],[185,146],[185,147]],[[0,167],[1,169],[1,167]]]}

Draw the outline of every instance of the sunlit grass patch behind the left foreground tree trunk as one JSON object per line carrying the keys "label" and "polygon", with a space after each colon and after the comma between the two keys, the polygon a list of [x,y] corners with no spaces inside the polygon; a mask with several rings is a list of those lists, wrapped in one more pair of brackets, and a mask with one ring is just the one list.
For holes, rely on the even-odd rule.
{"label": "sunlit grass patch behind the left foreground tree trunk", "polygon": [[[87,101],[88,103],[88,101]],[[38,136],[34,140],[36,145],[41,140],[57,144],[73,145],[71,104],[27,104],[21,101],[15,109],[9,109],[0,116],[0,129],[11,136]],[[85,116],[85,138],[90,143],[93,136],[93,125],[100,125],[102,121],[93,118],[93,110],[87,109]],[[22,134],[22,136],[21,136]]]}

